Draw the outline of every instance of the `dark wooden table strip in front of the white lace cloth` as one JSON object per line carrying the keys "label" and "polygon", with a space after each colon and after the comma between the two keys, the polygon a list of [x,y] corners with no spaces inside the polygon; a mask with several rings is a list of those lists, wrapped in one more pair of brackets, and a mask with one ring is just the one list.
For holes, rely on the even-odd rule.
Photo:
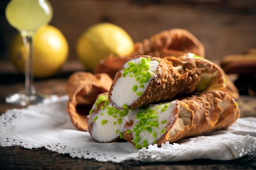
{"label": "dark wooden table strip in front of the white lace cloth", "polygon": [[25,149],[20,146],[0,147],[1,169],[75,169],[75,170],[254,170],[256,157],[245,156],[230,161],[214,161],[210,159],[195,159],[180,162],[139,162],[125,163],[98,162],[72,158],[68,154],[58,154],[45,148]]}

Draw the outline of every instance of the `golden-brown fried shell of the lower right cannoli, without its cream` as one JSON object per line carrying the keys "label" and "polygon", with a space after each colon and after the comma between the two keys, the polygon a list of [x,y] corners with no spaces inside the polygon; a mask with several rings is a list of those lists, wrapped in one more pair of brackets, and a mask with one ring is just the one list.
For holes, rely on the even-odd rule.
{"label": "golden-brown fried shell of the lower right cannoli, without its cream", "polygon": [[[187,97],[180,102],[184,104],[186,110],[192,111],[192,124],[175,134],[170,130],[158,144],[222,130],[231,126],[240,117],[237,102],[224,91],[208,91],[199,96]],[[174,125],[173,128],[175,127]]]}

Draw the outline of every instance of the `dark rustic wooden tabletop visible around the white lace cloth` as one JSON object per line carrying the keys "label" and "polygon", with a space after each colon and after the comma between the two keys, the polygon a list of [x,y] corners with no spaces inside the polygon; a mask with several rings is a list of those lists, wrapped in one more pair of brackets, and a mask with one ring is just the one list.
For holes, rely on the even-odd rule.
{"label": "dark rustic wooden tabletop visible around the white lace cloth", "polygon": [[[7,109],[21,108],[6,104],[4,97],[16,90],[24,88],[24,77],[13,71],[9,63],[0,62],[0,115]],[[66,80],[74,71],[82,71],[83,67],[77,62],[68,62],[59,75],[47,79],[36,79],[36,90],[45,94],[65,95]],[[241,117],[256,117],[256,97],[240,96],[238,104]],[[255,170],[256,157],[245,156],[230,161],[215,161],[197,159],[193,161],[169,163],[145,163],[127,161],[126,163],[102,163],[95,160],[72,158],[69,155],[58,154],[45,148],[26,149],[20,146],[0,147],[0,169],[90,169],[90,170]]]}

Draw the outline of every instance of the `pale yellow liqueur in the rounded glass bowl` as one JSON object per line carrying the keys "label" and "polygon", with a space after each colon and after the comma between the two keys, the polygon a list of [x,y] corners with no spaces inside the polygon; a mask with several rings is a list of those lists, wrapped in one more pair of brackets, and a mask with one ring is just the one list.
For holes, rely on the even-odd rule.
{"label": "pale yellow liqueur in the rounded glass bowl", "polygon": [[20,32],[33,34],[52,19],[52,6],[47,0],[11,0],[6,7],[8,22]]}

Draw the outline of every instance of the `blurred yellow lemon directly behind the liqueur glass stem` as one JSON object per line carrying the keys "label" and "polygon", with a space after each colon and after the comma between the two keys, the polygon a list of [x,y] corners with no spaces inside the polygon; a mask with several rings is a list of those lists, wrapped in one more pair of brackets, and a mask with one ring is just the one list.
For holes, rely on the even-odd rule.
{"label": "blurred yellow lemon directly behind the liqueur glass stem", "polygon": [[[41,26],[33,37],[33,73],[36,78],[56,75],[69,53],[69,46],[59,29],[51,25]],[[9,55],[17,70],[25,74],[25,47],[18,33],[11,42]]]}

